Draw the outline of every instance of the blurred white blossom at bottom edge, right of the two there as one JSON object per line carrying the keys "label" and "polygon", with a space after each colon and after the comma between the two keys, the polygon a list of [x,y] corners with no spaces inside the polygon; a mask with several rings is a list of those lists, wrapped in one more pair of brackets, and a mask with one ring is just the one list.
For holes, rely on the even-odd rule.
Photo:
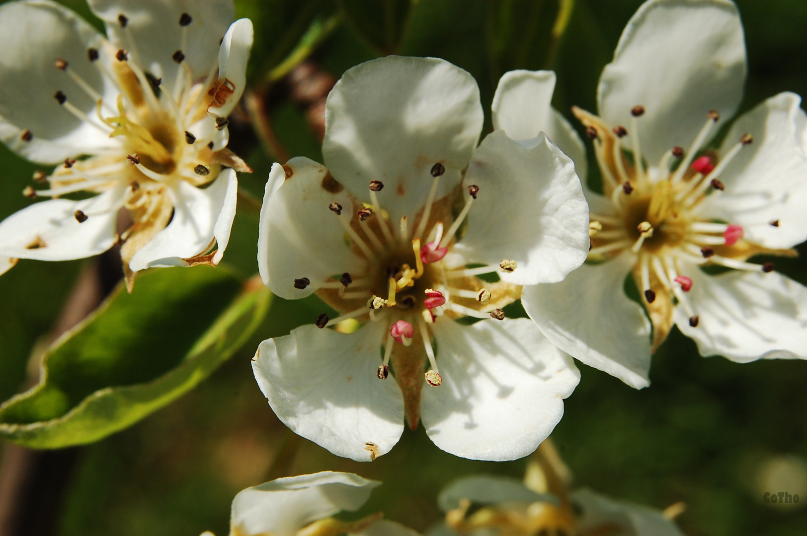
{"label": "blurred white blossom at bottom edge, right of the two there", "polygon": [[683,536],[664,511],[615,501],[587,488],[571,489],[571,471],[551,439],[531,456],[523,481],[511,476],[465,476],[438,497],[445,522],[427,536]]}

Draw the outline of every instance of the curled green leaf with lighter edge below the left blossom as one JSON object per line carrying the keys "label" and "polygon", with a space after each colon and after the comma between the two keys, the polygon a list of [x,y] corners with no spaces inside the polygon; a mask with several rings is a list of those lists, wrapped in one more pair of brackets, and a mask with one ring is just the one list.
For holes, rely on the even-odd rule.
{"label": "curled green leaf with lighter edge below the left blossom", "polygon": [[270,292],[221,268],[160,268],[122,286],[44,356],[40,384],[0,406],[0,438],[91,443],[207,378],[249,339]]}

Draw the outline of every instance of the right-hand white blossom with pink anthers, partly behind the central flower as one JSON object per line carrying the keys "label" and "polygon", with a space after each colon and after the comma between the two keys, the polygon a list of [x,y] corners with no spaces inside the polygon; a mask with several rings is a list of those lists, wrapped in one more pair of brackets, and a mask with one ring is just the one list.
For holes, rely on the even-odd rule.
{"label": "right-hand white blossom with pink anthers, partly behind the central flower", "polygon": [[[602,73],[600,117],[574,110],[603,178],[603,194],[584,186],[592,250],[561,283],[525,289],[523,302],[558,347],[633,387],[649,384],[650,355],[674,323],[702,355],[807,357],[807,289],[748,262],[793,256],[807,239],[805,113],[801,98],[780,93],[718,144],[745,74],[734,3],[651,0]],[[518,139],[546,131],[580,171],[583,144],[551,109],[553,89],[554,73],[506,74],[494,125]],[[629,274],[650,322],[624,291]]]}

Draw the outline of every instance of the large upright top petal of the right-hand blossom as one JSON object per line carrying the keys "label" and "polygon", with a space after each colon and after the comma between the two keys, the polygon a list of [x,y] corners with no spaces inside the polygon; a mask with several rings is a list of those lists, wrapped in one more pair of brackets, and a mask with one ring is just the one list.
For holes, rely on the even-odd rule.
{"label": "large upright top petal of the right-hand blossom", "polygon": [[[709,110],[730,118],[742,99],[746,48],[737,6],[727,0],[650,0],[630,19],[600,77],[600,116],[624,125],[633,106],[650,164],[688,148]],[[631,148],[629,137],[623,140]]]}

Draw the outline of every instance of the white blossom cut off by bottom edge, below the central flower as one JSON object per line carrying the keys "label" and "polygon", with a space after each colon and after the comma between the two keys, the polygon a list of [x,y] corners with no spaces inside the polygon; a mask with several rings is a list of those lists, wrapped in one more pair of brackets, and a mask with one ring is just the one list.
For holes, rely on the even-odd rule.
{"label": "white blossom cut off by bottom edge, below the central flower", "polygon": [[[418,536],[380,513],[358,521],[339,521],[341,511],[355,512],[381,483],[345,472],[278,478],[246,488],[232,500],[230,536]],[[202,536],[213,536],[205,532]]]}

